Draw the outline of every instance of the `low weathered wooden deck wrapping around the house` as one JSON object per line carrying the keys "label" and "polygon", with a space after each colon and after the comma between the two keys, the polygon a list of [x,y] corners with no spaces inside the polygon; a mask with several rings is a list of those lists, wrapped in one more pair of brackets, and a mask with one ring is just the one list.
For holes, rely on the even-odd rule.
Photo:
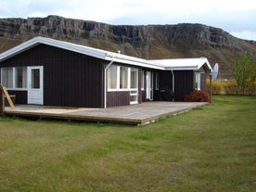
{"label": "low weathered wooden deck wrapping around the house", "polygon": [[145,124],[155,122],[173,114],[199,108],[207,103],[198,102],[145,102],[109,109],[61,108],[32,105],[16,105],[15,110],[5,108],[8,116],[27,116],[38,118],[67,119],[87,122],[119,122]]}

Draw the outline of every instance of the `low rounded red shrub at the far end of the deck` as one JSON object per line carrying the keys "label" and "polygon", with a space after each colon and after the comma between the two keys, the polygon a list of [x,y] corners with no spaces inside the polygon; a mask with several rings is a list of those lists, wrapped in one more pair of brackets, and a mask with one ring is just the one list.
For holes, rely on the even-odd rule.
{"label": "low rounded red shrub at the far end of the deck", "polygon": [[186,102],[210,102],[210,96],[205,91],[194,90],[184,97]]}

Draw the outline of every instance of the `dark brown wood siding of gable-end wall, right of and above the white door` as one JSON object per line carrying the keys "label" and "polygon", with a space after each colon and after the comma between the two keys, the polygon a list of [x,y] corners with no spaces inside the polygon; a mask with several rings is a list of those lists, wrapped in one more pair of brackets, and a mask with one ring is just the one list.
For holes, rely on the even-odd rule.
{"label": "dark brown wood siding of gable-end wall, right of and above the white door", "polygon": [[38,45],[8,58],[1,67],[44,66],[44,105],[103,108],[105,63],[54,46]]}

